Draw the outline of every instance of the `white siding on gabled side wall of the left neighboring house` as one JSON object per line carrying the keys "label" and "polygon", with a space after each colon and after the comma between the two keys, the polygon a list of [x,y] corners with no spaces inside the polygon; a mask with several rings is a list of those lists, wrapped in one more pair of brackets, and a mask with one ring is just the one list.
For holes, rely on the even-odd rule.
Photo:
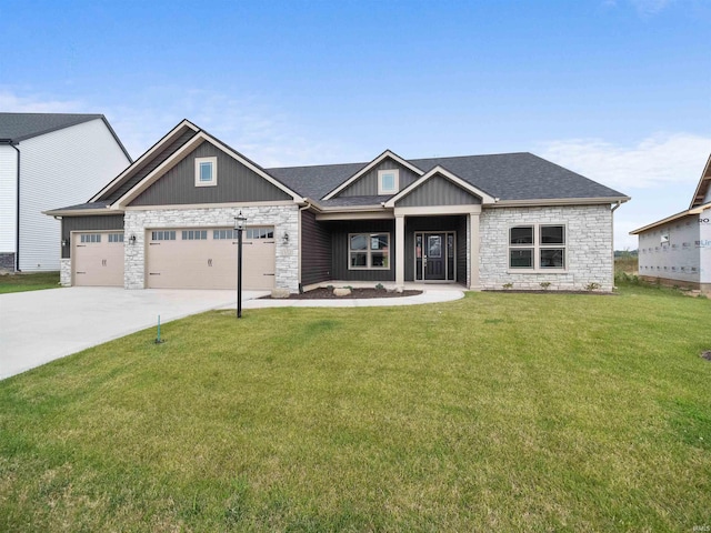
{"label": "white siding on gabled side wall of the left neighboring house", "polygon": [[86,202],[130,163],[101,119],[27,139],[20,149],[20,270],[59,270],[60,223],[42,214]]}

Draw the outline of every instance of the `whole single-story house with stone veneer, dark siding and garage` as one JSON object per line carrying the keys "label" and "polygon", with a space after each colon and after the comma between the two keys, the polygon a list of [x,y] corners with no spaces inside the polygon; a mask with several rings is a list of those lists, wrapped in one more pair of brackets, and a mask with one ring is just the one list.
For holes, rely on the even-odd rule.
{"label": "whole single-story house with stone veneer, dark siding and garage", "polygon": [[612,289],[629,198],[530,153],[264,169],[184,120],[62,219],[66,285]]}

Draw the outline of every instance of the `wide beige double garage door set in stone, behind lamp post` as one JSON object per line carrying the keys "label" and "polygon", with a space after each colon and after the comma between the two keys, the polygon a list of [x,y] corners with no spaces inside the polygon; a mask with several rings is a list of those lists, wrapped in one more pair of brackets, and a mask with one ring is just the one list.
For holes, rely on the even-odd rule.
{"label": "wide beige double garage door set in stone, behind lamp post", "polygon": [[[149,289],[237,289],[237,231],[230,228],[149,230]],[[274,288],[274,229],[242,233],[242,286]]]}

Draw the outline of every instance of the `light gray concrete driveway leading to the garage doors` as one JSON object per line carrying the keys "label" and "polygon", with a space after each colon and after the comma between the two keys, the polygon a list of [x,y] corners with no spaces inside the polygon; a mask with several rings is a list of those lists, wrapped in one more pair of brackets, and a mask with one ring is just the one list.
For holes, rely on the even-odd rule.
{"label": "light gray concrete driveway leading to the garage doors", "polygon": [[[247,301],[269,292],[244,291]],[[216,308],[236,291],[72,286],[0,294],[0,380],[54,359]]]}

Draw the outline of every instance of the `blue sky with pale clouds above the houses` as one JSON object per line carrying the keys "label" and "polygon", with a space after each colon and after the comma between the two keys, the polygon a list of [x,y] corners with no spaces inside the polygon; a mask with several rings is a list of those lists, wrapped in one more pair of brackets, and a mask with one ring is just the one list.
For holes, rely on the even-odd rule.
{"label": "blue sky with pale clouds above the houses", "polygon": [[0,110],[103,113],[134,158],[188,118],[264,167],[529,151],[689,204],[711,0],[0,3]]}

